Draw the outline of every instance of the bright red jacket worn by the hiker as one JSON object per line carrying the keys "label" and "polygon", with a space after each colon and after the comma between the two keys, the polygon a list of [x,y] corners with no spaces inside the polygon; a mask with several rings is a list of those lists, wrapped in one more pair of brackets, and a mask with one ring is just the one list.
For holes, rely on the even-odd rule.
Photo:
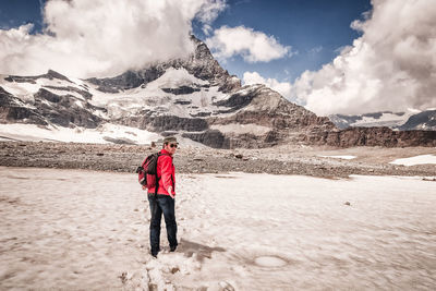
{"label": "bright red jacket worn by the hiker", "polygon": [[[162,149],[162,156],[157,160],[157,177],[159,179],[159,187],[157,194],[169,195],[168,187],[172,186],[172,195],[175,196],[175,168],[172,165],[172,157]],[[155,193],[155,187],[148,189],[148,193]]]}

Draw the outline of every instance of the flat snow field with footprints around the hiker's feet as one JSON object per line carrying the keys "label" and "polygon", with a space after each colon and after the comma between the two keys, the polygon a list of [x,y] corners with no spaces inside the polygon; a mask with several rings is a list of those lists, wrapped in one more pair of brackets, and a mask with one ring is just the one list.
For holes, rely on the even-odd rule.
{"label": "flat snow field with footprints around the hiker's feet", "polygon": [[135,174],[0,168],[0,289],[432,289],[436,183],[178,174],[180,245],[148,253]]}

